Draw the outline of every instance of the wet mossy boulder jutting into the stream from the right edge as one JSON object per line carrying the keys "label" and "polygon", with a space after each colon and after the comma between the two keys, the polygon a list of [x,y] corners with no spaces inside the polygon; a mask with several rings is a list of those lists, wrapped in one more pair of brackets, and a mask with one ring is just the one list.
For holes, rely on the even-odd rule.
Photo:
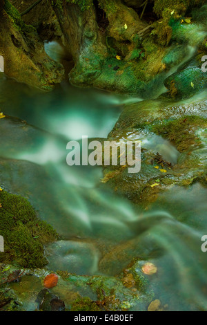
{"label": "wet mossy boulder jutting into the stream from the right edge", "polygon": [[173,185],[205,185],[206,123],[205,93],[190,104],[146,100],[126,106],[108,140],[141,141],[141,171],[106,167],[103,183],[144,205]]}

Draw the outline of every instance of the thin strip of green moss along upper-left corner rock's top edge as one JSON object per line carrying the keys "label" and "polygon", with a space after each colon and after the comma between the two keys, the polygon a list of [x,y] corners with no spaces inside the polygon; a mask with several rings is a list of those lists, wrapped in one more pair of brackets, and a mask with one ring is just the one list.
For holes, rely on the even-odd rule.
{"label": "thin strip of green moss along upper-left corner rock's top edge", "polygon": [[21,15],[19,14],[19,11],[12,6],[12,4],[5,0],[4,10],[12,19],[12,23],[14,24],[15,28],[19,31],[25,31],[25,32],[34,32],[35,28],[33,26],[26,25],[23,20],[21,19]]}

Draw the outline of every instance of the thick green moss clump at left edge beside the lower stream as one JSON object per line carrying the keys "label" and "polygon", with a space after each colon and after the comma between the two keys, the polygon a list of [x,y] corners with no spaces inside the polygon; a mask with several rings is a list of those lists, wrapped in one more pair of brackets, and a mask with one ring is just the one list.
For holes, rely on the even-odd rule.
{"label": "thick green moss clump at left edge beside the lower stream", "polygon": [[0,203],[0,234],[5,242],[0,261],[15,261],[23,268],[45,266],[43,244],[57,239],[55,230],[37,219],[26,198],[3,191],[0,192]]}

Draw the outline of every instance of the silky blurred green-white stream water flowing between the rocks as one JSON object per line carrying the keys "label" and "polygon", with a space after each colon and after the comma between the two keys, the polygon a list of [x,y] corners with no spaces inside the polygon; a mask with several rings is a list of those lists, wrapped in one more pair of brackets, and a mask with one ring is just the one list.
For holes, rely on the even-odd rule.
{"label": "silky blurred green-white stream water flowing between the rocks", "polygon": [[[2,76],[0,95],[1,109],[10,116],[1,120],[1,187],[28,198],[61,235],[46,247],[47,268],[116,275],[138,257],[156,264],[150,281],[155,297],[170,310],[206,309],[207,253],[201,252],[201,236],[207,234],[207,190],[199,184],[172,187],[145,211],[103,185],[101,167],[66,164],[68,141],[106,138],[122,104],[141,99],[66,83],[42,93]],[[127,138],[141,140],[172,163],[179,156],[159,136]]]}

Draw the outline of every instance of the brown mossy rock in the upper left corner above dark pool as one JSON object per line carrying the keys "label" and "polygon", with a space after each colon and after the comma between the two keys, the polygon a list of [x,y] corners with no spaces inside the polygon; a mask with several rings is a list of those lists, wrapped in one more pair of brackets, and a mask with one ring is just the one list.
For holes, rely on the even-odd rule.
{"label": "brown mossy rock in the upper left corner above dark pool", "polygon": [[31,86],[50,90],[63,79],[63,67],[46,55],[36,30],[21,20],[19,12],[1,1],[0,55],[5,74]]}

